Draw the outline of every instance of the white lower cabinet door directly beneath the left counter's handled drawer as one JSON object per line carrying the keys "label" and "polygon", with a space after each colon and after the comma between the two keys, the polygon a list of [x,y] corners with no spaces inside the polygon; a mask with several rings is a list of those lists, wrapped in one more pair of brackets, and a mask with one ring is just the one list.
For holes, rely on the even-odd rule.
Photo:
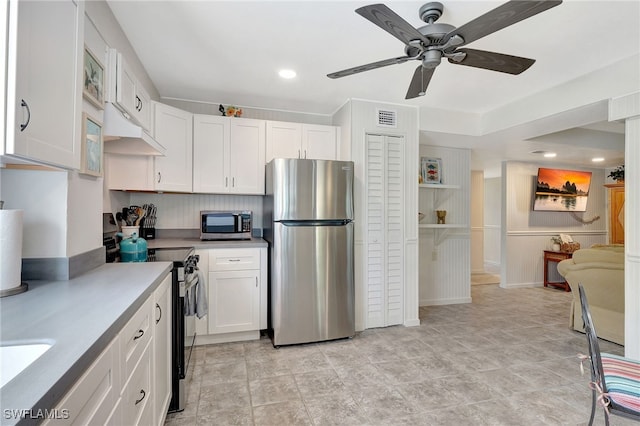
{"label": "white lower cabinet door directly beneath the left counter's handled drawer", "polygon": [[131,374],[131,380],[122,391],[122,424],[151,424],[152,399],[151,345],[148,344]]}

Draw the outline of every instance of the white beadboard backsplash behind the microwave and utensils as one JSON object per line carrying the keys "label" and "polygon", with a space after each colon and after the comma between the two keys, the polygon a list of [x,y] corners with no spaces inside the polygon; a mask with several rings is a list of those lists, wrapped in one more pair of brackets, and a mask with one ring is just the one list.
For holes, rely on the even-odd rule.
{"label": "white beadboard backsplash behind the microwave and utensils", "polygon": [[262,196],[131,193],[131,205],[155,204],[158,229],[199,229],[200,210],[251,210],[253,227],[262,228]]}

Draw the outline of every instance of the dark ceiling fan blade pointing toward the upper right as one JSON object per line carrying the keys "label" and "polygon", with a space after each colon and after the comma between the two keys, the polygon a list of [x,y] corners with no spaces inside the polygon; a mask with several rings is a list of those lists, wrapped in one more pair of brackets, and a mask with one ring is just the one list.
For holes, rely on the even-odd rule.
{"label": "dark ceiling fan blade pointing toward the upper right", "polygon": [[446,42],[454,35],[459,35],[464,39],[464,44],[468,44],[558,6],[560,3],[562,3],[562,0],[511,0],[451,31],[444,36],[443,41]]}

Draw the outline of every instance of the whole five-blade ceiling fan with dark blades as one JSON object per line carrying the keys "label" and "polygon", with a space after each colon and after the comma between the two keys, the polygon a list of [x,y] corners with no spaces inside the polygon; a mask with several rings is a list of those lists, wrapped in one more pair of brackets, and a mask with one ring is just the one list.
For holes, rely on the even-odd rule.
{"label": "whole five-blade ceiling fan with dark blades", "polygon": [[476,49],[460,49],[491,33],[558,6],[562,0],[511,0],[484,15],[456,28],[436,23],[444,9],[442,3],[424,4],[419,15],[426,25],[414,28],[383,4],[372,4],[356,9],[356,13],[373,22],[405,44],[405,56],[385,59],[366,65],[328,74],[329,78],[370,71],[387,65],[402,64],[410,60],[421,61],[413,74],[405,99],[423,96],[431,77],[443,57],[450,63],[483,68],[507,74],[520,74],[535,62],[534,59]]}

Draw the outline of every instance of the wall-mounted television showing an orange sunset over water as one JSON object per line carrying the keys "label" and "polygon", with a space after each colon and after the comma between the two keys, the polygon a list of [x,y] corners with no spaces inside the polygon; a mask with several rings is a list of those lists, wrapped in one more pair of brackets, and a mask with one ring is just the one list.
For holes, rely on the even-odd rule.
{"label": "wall-mounted television showing an orange sunset over water", "polygon": [[584,212],[590,185],[591,172],[540,167],[533,210]]}

